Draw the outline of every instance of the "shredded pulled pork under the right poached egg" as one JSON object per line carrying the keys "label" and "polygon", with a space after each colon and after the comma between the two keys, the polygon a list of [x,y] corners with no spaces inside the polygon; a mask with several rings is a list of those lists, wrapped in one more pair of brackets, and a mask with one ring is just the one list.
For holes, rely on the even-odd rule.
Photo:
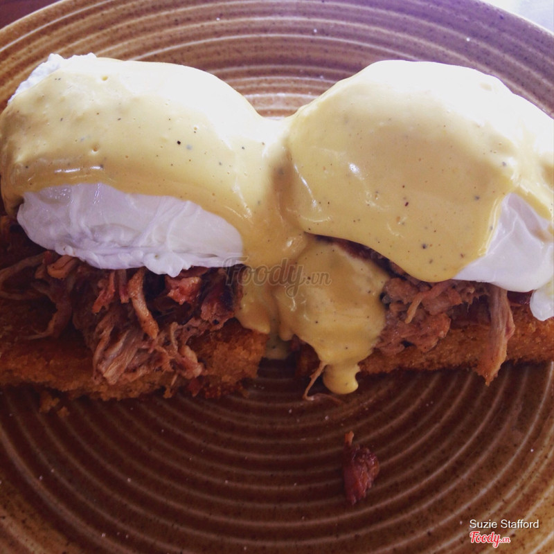
{"label": "shredded pulled pork under the right poached egg", "polygon": [[508,293],[488,283],[456,279],[427,283],[373,250],[346,240],[339,242],[353,256],[373,260],[391,275],[382,294],[386,325],[375,345],[377,350],[393,356],[413,345],[428,352],[452,325],[482,323],[489,325],[490,331],[476,373],[485,377],[487,384],[496,377],[515,332],[511,305],[528,303],[529,293]]}

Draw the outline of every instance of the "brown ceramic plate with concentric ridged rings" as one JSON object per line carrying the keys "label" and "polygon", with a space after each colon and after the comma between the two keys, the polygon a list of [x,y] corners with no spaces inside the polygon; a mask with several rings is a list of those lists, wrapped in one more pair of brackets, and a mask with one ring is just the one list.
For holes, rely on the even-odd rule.
{"label": "brown ceramic plate with concentric ridged rings", "polygon": [[[93,51],[212,71],[274,116],[391,57],[494,73],[552,113],[553,48],[474,0],[66,0],[0,31],[0,107],[48,53]],[[32,391],[4,391],[0,551],[492,551],[471,543],[473,520],[496,524],[506,553],[551,553],[553,382],[551,367],[504,368],[490,387],[399,373],[336,404],[303,402],[289,368],[265,366],[245,396],[50,413]],[[381,461],[354,507],[340,471],[350,430]]]}

